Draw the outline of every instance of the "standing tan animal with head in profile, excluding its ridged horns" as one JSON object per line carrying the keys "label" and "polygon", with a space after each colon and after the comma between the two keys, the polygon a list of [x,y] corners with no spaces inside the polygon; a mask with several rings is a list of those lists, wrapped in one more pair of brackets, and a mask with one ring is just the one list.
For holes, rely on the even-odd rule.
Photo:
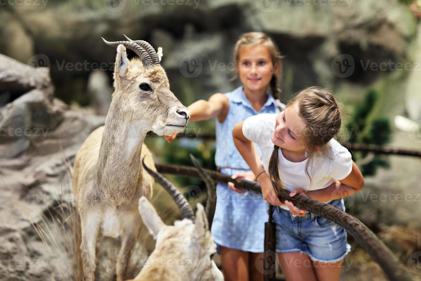
{"label": "standing tan animal with head in profile, excluding its ridged horns", "polygon": [[[144,138],[148,131],[158,135],[180,132],[190,118],[187,108],[170,91],[159,62],[145,67],[144,58],[129,61],[124,45],[133,48],[133,43],[126,42],[117,46],[115,91],[105,126],[85,140],[73,169],[73,192],[82,224],[80,249],[85,281],[94,279],[95,247],[100,233],[121,236],[117,281],[123,280],[141,226],[138,201],[141,196],[151,198],[154,183],[141,164],[146,157],[147,165],[155,169]],[[158,56],[162,56],[162,49]],[[144,89],[145,84],[149,89]]]}

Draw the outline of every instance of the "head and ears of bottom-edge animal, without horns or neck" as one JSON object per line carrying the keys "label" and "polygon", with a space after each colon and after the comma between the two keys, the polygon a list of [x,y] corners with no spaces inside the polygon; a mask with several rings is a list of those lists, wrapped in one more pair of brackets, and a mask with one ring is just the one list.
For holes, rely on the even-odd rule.
{"label": "head and ears of bottom-edge animal, without horns or neck", "polygon": [[[216,244],[210,234],[202,204],[197,204],[194,220],[185,218],[176,221],[173,226],[165,225],[145,197],[139,199],[139,212],[149,232],[156,239],[154,253],[156,252],[157,257],[175,260],[176,264],[181,262],[182,270],[188,273],[188,280],[224,280],[212,260]],[[149,258],[153,259],[152,254]]]}

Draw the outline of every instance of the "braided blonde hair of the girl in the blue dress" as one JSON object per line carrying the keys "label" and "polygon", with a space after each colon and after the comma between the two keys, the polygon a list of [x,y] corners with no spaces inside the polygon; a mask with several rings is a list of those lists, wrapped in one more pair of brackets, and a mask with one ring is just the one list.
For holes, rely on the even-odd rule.
{"label": "braided blonde hair of the girl in the blue dress", "polygon": [[[247,32],[243,33],[238,39],[237,43],[235,43],[234,47],[234,59],[235,63],[237,64],[240,59],[240,49],[242,47],[254,47],[256,45],[262,44],[269,49],[270,56],[272,59],[273,69],[279,65],[279,71],[276,74],[272,75],[272,79],[270,80],[269,86],[271,88],[272,96],[274,99],[279,99],[279,94],[281,89],[279,88],[279,84],[282,78],[282,62],[280,55],[279,48],[273,42],[273,40],[263,32]],[[236,74],[232,80],[236,79],[238,75]]]}

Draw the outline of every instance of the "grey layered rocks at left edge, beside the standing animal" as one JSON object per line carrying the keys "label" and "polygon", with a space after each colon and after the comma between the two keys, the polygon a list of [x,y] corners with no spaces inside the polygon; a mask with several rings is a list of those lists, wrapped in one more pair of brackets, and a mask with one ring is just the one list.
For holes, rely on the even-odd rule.
{"label": "grey layered rocks at left edge, beside the standing animal", "polygon": [[[51,274],[68,280],[66,253],[54,246],[48,252],[34,226],[69,193],[70,162],[105,117],[69,110],[53,96],[48,69],[37,72],[4,55],[0,89],[5,103],[0,106],[0,280],[44,281]],[[61,244],[54,229],[44,229],[44,236]],[[53,270],[57,267],[64,273]]]}

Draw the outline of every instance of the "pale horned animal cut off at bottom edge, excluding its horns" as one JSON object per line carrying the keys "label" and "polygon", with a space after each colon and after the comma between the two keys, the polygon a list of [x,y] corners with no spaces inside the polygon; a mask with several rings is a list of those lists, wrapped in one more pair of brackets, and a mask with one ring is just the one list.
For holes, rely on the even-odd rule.
{"label": "pale horned animal cut off at bottom edge, excluding its horns", "polygon": [[[139,199],[139,212],[149,232],[156,239],[156,246],[133,281],[224,280],[212,260],[216,244],[210,234],[202,204],[197,204],[194,220],[185,218],[176,221],[173,226],[165,225],[145,197]],[[173,268],[168,268],[170,262]]]}

